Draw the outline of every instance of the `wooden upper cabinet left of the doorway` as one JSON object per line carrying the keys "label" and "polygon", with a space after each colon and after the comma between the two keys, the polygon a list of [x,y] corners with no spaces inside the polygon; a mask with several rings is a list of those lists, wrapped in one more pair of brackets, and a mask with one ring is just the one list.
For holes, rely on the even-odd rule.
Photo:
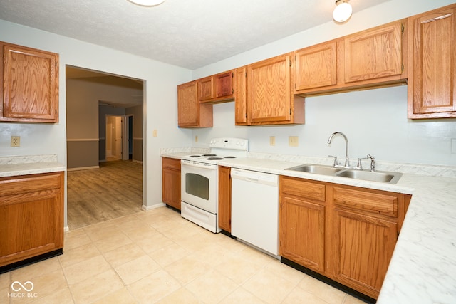
{"label": "wooden upper cabinet left of the doorway", "polygon": [[0,42],[0,121],[58,122],[58,54]]}

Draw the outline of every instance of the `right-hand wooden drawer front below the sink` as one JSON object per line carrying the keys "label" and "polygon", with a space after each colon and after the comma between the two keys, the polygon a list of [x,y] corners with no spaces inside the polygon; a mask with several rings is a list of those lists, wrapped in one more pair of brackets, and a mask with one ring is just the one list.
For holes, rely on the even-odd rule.
{"label": "right-hand wooden drawer front below the sink", "polygon": [[334,187],[333,196],[336,206],[345,206],[372,214],[398,216],[398,194]]}

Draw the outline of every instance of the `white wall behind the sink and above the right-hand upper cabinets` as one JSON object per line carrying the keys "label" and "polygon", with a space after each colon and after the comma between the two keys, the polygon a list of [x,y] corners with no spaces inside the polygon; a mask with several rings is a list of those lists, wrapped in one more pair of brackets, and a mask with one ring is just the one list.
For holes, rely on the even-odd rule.
{"label": "white wall behind the sink and above the right-hand upper cabinets", "polygon": [[[200,68],[193,75],[212,75],[454,2],[390,0],[353,14],[346,24],[328,22]],[[306,98],[305,111],[305,125],[234,127],[234,103],[214,105],[214,127],[193,130],[193,139],[198,136],[194,145],[205,147],[212,137],[244,137],[253,152],[343,158],[341,138],[326,144],[332,132],[341,131],[348,137],[354,161],[373,154],[379,161],[456,166],[456,119],[408,120],[407,86]],[[276,137],[274,147],[269,145],[271,135]],[[290,135],[299,136],[299,147],[289,147]]]}

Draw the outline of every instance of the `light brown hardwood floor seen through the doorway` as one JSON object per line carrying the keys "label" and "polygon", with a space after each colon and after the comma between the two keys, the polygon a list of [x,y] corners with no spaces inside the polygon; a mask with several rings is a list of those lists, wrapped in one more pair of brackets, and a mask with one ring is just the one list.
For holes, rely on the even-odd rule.
{"label": "light brown hardwood floor seen through the doorway", "polygon": [[114,160],[70,171],[67,191],[69,229],[135,214],[142,206],[142,164]]}

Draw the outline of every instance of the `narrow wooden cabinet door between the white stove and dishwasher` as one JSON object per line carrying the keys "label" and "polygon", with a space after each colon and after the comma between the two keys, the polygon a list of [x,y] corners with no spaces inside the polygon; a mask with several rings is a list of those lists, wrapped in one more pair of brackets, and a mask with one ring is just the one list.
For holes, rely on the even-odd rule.
{"label": "narrow wooden cabinet door between the white stove and dishwasher", "polygon": [[219,167],[219,227],[231,232],[231,168]]}

